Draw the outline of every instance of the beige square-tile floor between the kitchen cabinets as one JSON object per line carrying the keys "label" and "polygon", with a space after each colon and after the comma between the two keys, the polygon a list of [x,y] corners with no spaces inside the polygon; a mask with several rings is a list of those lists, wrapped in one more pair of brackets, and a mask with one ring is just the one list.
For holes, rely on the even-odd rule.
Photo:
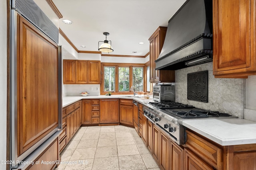
{"label": "beige square-tile floor between the kitchen cabinets", "polygon": [[80,127],[55,170],[160,170],[134,128]]}

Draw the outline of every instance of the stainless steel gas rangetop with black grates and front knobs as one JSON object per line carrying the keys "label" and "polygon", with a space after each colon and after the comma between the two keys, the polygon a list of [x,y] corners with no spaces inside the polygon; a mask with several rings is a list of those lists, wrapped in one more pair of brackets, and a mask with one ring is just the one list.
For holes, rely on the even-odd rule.
{"label": "stainless steel gas rangetop with black grates and front knobs", "polygon": [[[184,119],[234,118],[228,113],[209,111],[177,102],[149,102],[143,106],[144,115],[166,131],[178,145],[185,143]],[[237,118],[237,117],[235,117]]]}

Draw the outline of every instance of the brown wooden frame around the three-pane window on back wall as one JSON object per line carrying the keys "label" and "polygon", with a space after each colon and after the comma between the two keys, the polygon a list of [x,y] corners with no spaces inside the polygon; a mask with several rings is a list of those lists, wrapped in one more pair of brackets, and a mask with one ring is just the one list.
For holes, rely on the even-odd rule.
{"label": "brown wooden frame around the three-pane window on back wall", "polygon": [[[145,81],[146,81],[146,72],[145,72],[145,64],[134,64],[134,63],[101,63],[101,84],[100,84],[100,94],[104,95],[108,93],[108,91],[104,91],[104,66],[108,67],[115,67],[115,92],[111,92],[111,94],[133,94],[130,91],[130,87],[132,86],[132,67],[142,67],[143,68],[143,92],[145,91]],[[129,91],[120,91],[119,92],[119,75],[118,75],[118,68],[119,67],[130,67],[129,69]],[[141,91],[142,92],[142,91]],[[140,94],[140,91],[138,92]]]}

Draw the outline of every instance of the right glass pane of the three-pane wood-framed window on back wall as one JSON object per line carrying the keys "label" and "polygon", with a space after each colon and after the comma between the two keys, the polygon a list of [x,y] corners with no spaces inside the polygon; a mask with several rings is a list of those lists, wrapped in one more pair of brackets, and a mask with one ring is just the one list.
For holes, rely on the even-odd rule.
{"label": "right glass pane of the three-pane wood-framed window on back wall", "polygon": [[136,91],[143,91],[143,67],[132,67],[132,86]]}

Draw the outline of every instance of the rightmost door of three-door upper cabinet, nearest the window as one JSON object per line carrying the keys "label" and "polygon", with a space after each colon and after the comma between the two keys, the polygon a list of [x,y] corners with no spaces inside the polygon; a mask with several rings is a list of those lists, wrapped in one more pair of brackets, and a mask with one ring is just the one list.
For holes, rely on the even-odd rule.
{"label": "rightmost door of three-door upper cabinet, nearest the window", "polygon": [[88,61],[88,83],[100,84],[100,61]]}

